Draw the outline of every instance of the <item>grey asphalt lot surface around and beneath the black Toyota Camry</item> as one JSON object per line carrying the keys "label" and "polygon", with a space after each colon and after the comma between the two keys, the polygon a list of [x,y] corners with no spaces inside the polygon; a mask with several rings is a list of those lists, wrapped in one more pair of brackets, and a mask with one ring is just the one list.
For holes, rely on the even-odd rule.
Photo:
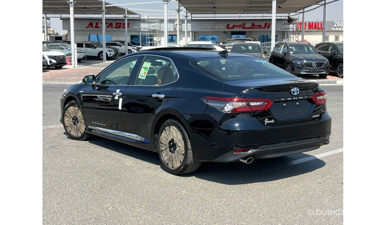
{"label": "grey asphalt lot surface around and beneath the black Toyota Camry", "polygon": [[63,84],[43,84],[43,224],[343,224],[343,85],[321,85],[330,144],[245,163],[163,170],[158,154],[59,122]]}

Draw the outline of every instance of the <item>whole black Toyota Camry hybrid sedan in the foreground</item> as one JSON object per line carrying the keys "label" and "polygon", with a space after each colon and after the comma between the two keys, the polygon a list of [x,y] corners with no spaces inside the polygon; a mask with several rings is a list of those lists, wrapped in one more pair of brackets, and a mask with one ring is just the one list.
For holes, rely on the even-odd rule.
{"label": "whole black Toyota Camry hybrid sedan in the foreground", "polygon": [[115,61],[69,86],[60,121],[90,135],[158,152],[173,174],[201,162],[243,162],[329,143],[326,92],[250,55],[158,48]]}

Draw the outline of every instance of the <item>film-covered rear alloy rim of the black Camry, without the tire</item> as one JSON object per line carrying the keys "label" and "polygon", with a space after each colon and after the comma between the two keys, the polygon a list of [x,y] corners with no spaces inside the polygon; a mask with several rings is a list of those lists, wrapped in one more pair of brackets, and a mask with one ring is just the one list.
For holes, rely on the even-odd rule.
{"label": "film-covered rear alloy rim of the black Camry, without the tire", "polygon": [[169,125],[160,135],[159,150],[164,163],[171,169],[179,167],[185,157],[185,142],[181,132]]}

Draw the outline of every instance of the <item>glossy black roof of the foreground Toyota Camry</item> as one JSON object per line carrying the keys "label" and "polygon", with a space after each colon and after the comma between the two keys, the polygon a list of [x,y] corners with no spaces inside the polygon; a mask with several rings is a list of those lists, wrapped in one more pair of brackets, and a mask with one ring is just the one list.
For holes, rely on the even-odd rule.
{"label": "glossy black roof of the foreground Toyota Camry", "polygon": [[[162,50],[162,51],[152,51],[152,50],[146,50],[146,51],[140,51],[131,53],[130,55],[126,55],[125,57],[130,57],[133,55],[142,55],[142,54],[151,54],[151,55],[161,55],[166,56],[170,58],[185,58],[186,60],[191,60],[193,58],[212,58],[212,57],[221,57],[219,52],[214,51],[207,51],[207,50]],[[246,55],[242,53],[236,53],[236,52],[227,52],[228,57],[254,57],[252,55]]]}

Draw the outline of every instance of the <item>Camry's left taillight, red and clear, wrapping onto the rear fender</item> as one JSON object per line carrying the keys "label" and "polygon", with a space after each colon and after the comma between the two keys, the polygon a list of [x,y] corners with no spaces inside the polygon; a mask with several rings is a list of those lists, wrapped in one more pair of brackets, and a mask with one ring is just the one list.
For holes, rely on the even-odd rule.
{"label": "Camry's left taillight, red and clear, wrapping onto the rear fender", "polygon": [[201,98],[201,100],[225,113],[267,110],[273,103],[268,98],[205,97]]}

